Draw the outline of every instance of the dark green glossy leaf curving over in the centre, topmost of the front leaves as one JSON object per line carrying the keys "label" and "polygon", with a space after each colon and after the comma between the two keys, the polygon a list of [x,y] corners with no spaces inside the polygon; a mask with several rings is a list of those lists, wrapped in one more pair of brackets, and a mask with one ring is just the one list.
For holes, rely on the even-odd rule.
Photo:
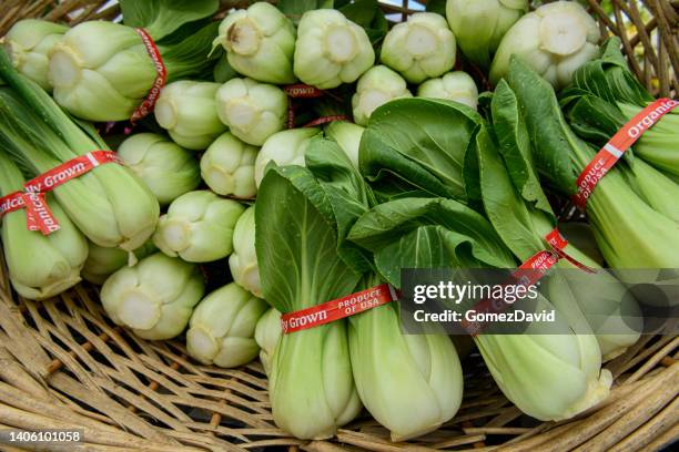
{"label": "dark green glossy leaf curving over in the centre, topmost of the front leaves", "polygon": [[468,202],[465,155],[482,122],[472,110],[434,99],[392,101],[371,116],[361,141],[361,172],[379,194],[408,192]]}

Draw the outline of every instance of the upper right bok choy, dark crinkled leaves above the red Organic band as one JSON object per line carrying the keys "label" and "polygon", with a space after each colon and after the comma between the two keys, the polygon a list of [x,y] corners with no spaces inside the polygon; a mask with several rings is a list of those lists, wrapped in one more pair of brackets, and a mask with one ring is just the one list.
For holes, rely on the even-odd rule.
{"label": "upper right bok choy, dark crinkled leaves above the red Organic band", "polygon": [[[576,71],[571,86],[560,96],[572,130],[597,146],[655,101],[629,71],[619,49],[620,40],[609,39],[601,55]],[[677,143],[679,112],[675,109],[639,137],[634,154],[679,183]]]}

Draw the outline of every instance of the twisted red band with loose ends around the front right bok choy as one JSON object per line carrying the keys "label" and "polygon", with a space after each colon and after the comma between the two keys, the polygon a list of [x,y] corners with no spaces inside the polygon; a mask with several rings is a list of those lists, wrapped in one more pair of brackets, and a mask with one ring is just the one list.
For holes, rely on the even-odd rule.
{"label": "twisted red band with loose ends around the front right bok choy", "polygon": [[[551,251],[541,250],[533,255],[528,260],[521,264],[511,276],[517,279],[518,285],[524,287],[533,286],[537,284],[547,271],[559,261],[559,259],[567,259],[569,263],[574,264],[576,267],[580,268],[587,273],[595,273],[594,269],[587,267],[584,264],[578,263],[572,257],[568,256],[564,248],[568,245],[568,240],[559,233],[559,230],[555,227],[549,234],[545,236],[547,243],[551,246]],[[480,314],[489,314],[489,312],[501,312],[507,308],[507,304],[504,300],[494,299],[494,300],[482,300],[479,301],[474,309]],[[470,322],[464,320],[462,322],[463,328],[467,330],[467,332],[472,336],[477,336],[484,323],[480,321]]]}

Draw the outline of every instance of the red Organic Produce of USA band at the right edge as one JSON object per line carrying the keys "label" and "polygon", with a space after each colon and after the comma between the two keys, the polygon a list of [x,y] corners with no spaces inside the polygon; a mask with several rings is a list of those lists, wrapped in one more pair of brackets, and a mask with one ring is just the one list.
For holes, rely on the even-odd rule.
{"label": "red Organic Produce of USA band at the right edge", "polygon": [[604,147],[597,153],[591,162],[577,178],[578,193],[574,195],[574,203],[585,208],[587,199],[591,196],[595,187],[604,178],[606,173],[620,160],[622,154],[639,140],[643,132],[652,127],[660,119],[672,111],[679,102],[671,99],[658,99],[656,102],[641,110],[639,114],[629,120]]}

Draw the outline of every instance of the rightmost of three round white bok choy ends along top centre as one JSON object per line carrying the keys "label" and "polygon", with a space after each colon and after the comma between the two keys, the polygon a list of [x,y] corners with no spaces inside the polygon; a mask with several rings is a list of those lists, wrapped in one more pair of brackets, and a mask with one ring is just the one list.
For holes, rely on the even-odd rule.
{"label": "rightmost of three round white bok choy ends along top centre", "polygon": [[439,76],[455,65],[455,35],[435,12],[416,12],[384,38],[379,61],[409,83]]}

